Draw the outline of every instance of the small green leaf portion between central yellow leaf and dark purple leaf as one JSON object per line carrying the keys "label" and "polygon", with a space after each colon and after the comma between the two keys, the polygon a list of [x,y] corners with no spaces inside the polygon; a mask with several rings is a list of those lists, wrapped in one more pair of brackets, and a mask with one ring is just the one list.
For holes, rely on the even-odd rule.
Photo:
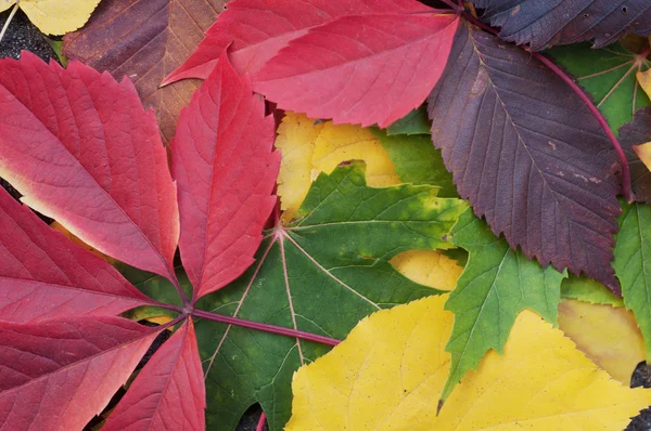
{"label": "small green leaf portion between central yellow leaf and dark purple leaf", "polygon": [[388,158],[396,166],[400,181],[411,184],[429,184],[441,187],[439,197],[459,197],[452,183],[452,174],[445,169],[441,149],[432,145],[430,136],[399,134],[387,135],[373,129]]}

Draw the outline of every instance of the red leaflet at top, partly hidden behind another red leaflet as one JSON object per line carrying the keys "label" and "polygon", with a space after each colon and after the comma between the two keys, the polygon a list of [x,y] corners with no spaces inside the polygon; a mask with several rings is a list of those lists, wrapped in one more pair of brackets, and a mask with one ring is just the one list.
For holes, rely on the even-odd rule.
{"label": "red leaflet at top, partly hidden behind another red leaflet", "polygon": [[427,10],[414,0],[233,0],[188,61],[163,84],[207,78],[231,42],[229,58],[235,70],[255,74],[290,40],[340,16]]}

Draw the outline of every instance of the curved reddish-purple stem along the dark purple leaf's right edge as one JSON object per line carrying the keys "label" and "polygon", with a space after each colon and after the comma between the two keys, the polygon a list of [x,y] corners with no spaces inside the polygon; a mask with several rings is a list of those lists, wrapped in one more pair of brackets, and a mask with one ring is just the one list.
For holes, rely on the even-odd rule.
{"label": "curved reddish-purple stem along the dark purple leaf's right edge", "polygon": [[[496,35],[496,36],[498,35],[498,31],[495,28],[482,23],[481,21],[478,21],[477,18],[472,16],[470,13],[462,12],[461,16],[463,16],[465,19],[468,19],[468,22],[480,27],[481,29],[483,29],[487,32],[490,32],[493,35]],[[592,103],[590,97],[574,81],[574,79],[570,75],[567,75],[563,69],[561,69],[559,66],[557,66],[556,63],[553,63],[551,60],[549,60],[545,55],[540,54],[539,52],[531,51],[529,49],[524,49],[524,50],[526,52],[531,53],[540,63],[542,63],[548,69],[550,69],[559,78],[561,78],[576,93],[576,95],[578,95],[578,97],[586,104],[586,106],[588,107],[588,109],[590,110],[592,116],[599,122],[599,126],[601,126],[601,129],[603,129],[603,132],[605,133],[609,141],[611,142],[611,145],[613,146],[613,148],[615,148],[615,152],[617,153],[617,157],[620,158],[620,164],[622,165],[622,194],[624,195],[624,198],[628,203],[634,201],[635,196],[630,188],[630,169],[628,167],[628,160],[626,160],[626,154],[624,154],[624,149],[622,148],[622,145],[620,145],[617,138],[615,138],[615,134],[611,130],[610,126],[608,125],[608,121],[605,120],[605,118],[603,117],[603,115],[601,114],[599,108],[597,106],[595,106],[595,104]]]}

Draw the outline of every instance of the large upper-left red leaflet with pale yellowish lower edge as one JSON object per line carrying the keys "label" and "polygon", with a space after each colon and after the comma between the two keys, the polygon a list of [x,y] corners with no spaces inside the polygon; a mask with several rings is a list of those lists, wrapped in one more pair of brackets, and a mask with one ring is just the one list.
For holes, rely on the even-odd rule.
{"label": "large upper-left red leaflet with pale yellowish lower edge", "polygon": [[98,250],[174,277],[176,187],[128,80],[27,52],[0,60],[0,175]]}

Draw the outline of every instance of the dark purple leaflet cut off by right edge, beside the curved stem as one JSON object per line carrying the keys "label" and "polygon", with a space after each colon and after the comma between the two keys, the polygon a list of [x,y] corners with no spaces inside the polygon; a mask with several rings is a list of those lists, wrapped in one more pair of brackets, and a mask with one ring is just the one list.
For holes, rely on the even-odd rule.
{"label": "dark purple leaflet cut off by right edge, beside the curved stem", "polygon": [[620,144],[628,160],[635,198],[651,204],[651,172],[635,152],[637,145],[648,142],[651,142],[651,107],[636,112],[634,120],[620,129]]}

